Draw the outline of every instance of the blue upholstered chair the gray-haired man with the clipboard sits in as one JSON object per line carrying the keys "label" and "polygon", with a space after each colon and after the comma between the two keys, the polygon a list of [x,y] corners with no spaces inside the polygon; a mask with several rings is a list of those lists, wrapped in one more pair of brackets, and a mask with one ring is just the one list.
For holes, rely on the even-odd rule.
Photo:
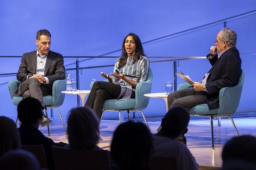
{"label": "blue upholstered chair the gray-haired man with the clipboard sits in", "polygon": [[[242,88],[244,84],[244,71],[242,71],[241,77],[239,79],[239,83],[233,87],[225,87],[221,88],[219,92],[219,107],[218,108],[209,108],[207,104],[196,105],[195,107],[189,109],[189,113],[192,116],[209,116],[211,131],[212,131],[212,149],[214,149],[214,136],[213,136],[213,117],[223,117],[230,118],[235,130],[236,134],[239,136],[239,133],[236,129],[236,125],[232,119],[232,115],[236,113],[236,109],[238,108]],[[188,83],[180,84],[177,90],[182,90],[191,86]]]}

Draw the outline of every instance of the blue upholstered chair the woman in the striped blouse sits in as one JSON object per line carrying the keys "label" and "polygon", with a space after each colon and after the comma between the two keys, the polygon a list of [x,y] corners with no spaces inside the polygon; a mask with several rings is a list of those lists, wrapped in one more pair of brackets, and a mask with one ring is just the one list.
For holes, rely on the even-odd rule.
{"label": "blue upholstered chair the woman in the striped blouse sits in", "polygon": [[[148,126],[148,123],[145,119],[145,116],[142,110],[148,106],[149,97],[144,96],[144,94],[151,92],[152,79],[153,79],[152,71],[150,68],[148,68],[147,80],[145,82],[139,82],[136,86],[135,99],[106,100],[103,105],[102,115],[106,111],[117,111],[119,112],[119,123],[121,124],[121,111],[127,111],[129,120],[130,120],[130,111],[133,111],[133,112],[140,111],[145,123]],[[92,88],[92,85],[93,83],[91,83],[90,88]]]}

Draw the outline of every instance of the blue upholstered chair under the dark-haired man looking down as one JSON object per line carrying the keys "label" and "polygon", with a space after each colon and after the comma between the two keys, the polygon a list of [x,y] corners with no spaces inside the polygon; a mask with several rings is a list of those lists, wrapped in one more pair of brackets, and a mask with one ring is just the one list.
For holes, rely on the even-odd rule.
{"label": "blue upholstered chair under the dark-haired man looking down", "polygon": [[[8,88],[9,88],[10,95],[12,97],[12,103],[15,106],[17,106],[19,102],[22,100],[22,96],[13,96],[15,91],[17,91],[19,84],[20,84],[20,81],[18,80],[11,80],[8,82]],[[53,85],[52,85],[52,96],[44,96],[43,100],[44,100],[46,116],[48,116],[47,109],[52,109],[52,108],[57,109],[58,114],[61,118],[62,125],[66,131],[66,127],[61,117],[61,113],[58,109],[58,107],[61,106],[62,103],[64,102],[64,98],[65,98],[65,94],[61,93],[61,91],[65,91],[65,90],[66,90],[66,80],[56,80],[55,82],[53,82]],[[17,120],[16,120],[16,123],[17,123]],[[47,127],[48,127],[48,136],[51,136],[49,125],[47,125]]]}

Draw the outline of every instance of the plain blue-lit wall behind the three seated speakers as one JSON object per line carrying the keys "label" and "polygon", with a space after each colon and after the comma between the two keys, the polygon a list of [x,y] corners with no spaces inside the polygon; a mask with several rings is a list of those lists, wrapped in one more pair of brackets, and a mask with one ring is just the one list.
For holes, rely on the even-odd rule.
{"label": "plain blue-lit wall behind the three seated speakers", "polygon": [[[223,23],[164,40],[155,39],[253,10],[256,10],[254,0],[1,0],[0,56],[21,56],[35,50],[35,34],[42,28],[48,29],[52,34],[51,50],[63,56],[119,56],[122,40],[129,32],[138,34],[142,42],[153,40],[143,45],[147,56],[205,56],[209,47],[214,45],[216,34],[224,27]],[[238,34],[237,48],[240,53],[256,53],[255,21],[256,14],[227,21],[227,27],[233,28]],[[256,112],[256,92],[253,85],[256,57],[241,55],[241,59],[246,77],[237,112]],[[65,58],[66,68],[74,68],[75,60],[76,58]],[[115,60],[89,59],[81,62],[80,66],[114,64]],[[155,60],[160,59],[150,59]],[[20,58],[0,58],[0,74],[15,73],[19,65]],[[172,62],[151,63],[150,67],[154,76],[152,92],[164,92],[165,82],[173,81]],[[194,59],[181,61],[177,71],[182,70],[193,80],[200,80],[209,68],[210,64],[206,59]],[[89,89],[91,78],[102,80],[101,71],[110,73],[112,70],[111,67],[83,70],[80,89]],[[74,71],[69,73],[75,78]],[[16,77],[0,77],[0,115],[17,114],[17,108],[12,105],[5,84],[10,79]],[[178,79],[178,84],[180,83],[183,80]],[[76,96],[66,95],[64,105],[60,107],[64,117],[72,107],[76,107]],[[162,99],[150,99],[144,112],[147,117],[163,116],[165,103]],[[117,116],[105,118],[113,117]]]}

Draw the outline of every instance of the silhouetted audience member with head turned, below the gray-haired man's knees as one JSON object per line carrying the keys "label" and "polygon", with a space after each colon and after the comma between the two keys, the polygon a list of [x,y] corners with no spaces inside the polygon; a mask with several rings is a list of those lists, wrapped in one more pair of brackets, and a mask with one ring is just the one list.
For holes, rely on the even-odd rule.
{"label": "silhouetted audience member with head turned, below the gray-haired man's knees", "polygon": [[187,132],[189,113],[186,108],[171,108],[162,119],[160,131],[153,135],[153,156],[174,157],[178,170],[198,170],[199,166],[189,149],[176,139]]}

